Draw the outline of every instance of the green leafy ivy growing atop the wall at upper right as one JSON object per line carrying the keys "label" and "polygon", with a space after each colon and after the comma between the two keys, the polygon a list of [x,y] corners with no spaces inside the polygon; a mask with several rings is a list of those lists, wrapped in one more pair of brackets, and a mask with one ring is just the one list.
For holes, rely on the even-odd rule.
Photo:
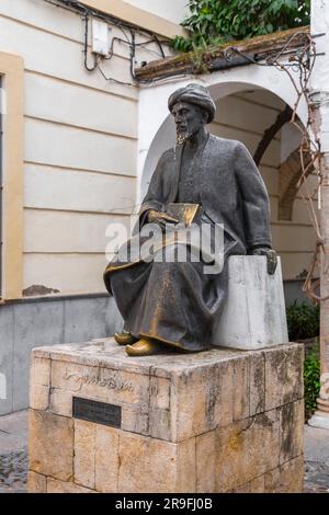
{"label": "green leafy ivy growing atop the wall at upper right", "polygon": [[188,7],[181,24],[189,37],[172,39],[180,52],[307,25],[310,0],[189,0]]}

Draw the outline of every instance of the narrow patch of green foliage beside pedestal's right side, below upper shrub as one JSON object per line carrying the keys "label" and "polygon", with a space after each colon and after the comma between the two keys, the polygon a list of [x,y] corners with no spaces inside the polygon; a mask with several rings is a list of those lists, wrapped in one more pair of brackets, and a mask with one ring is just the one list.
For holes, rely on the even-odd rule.
{"label": "narrow patch of green foliage beside pedestal's right side, below upper shrub", "polygon": [[304,403],[305,421],[310,419],[317,408],[317,397],[320,389],[319,351],[313,351],[304,362]]}

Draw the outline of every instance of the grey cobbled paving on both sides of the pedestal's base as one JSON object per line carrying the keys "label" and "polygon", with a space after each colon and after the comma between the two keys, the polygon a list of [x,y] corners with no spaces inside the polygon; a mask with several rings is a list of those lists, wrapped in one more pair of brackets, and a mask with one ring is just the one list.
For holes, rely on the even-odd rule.
{"label": "grey cobbled paving on both sides of the pedestal's base", "polygon": [[[0,416],[0,493],[26,492],[27,411]],[[329,431],[305,425],[306,493],[329,493]]]}

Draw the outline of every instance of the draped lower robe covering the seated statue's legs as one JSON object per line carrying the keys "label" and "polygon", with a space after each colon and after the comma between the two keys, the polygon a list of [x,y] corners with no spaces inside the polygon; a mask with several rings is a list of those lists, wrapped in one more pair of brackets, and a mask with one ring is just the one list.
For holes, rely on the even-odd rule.
{"label": "draped lower robe covering the seated statue's legs", "polygon": [[[138,340],[156,340],[162,352],[205,351],[209,348],[213,320],[220,314],[226,281],[223,274],[205,275],[203,262],[190,262],[189,253],[186,261],[179,261],[177,251],[175,244],[167,245],[166,260],[114,272],[111,290],[126,331]],[[129,355],[150,352],[155,352],[154,346],[138,345]]]}

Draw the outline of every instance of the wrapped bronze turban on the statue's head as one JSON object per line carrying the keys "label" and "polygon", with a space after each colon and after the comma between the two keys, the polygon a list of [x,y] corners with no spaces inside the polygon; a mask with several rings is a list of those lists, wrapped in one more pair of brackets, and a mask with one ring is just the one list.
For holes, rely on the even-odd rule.
{"label": "wrapped bronze turban on the statue's head", "polygon": [[168,100],[169,111],[172,112],[172,107],[178,102],[186,102],[188,104],[198,105],[205,110],[208,114],[207,123],[213,122],[216,105],[206,88],[200,84],[188,84],[185,88],[175,90]]}

